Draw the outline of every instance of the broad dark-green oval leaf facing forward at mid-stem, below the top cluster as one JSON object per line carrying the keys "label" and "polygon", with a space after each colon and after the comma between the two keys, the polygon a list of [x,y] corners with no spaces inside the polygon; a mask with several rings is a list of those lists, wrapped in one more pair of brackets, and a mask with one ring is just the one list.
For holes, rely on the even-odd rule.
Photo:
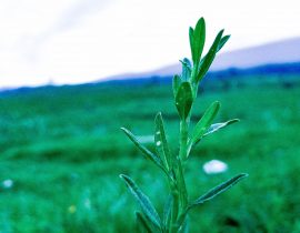
{"label": "broad dark-green oval leaf facing forward at mid-stem, below the top cluster", "polygon": [[192,88],[189,82],[182,82],[176,95],[176,108],[182,120],[186,120],[192,107]]}

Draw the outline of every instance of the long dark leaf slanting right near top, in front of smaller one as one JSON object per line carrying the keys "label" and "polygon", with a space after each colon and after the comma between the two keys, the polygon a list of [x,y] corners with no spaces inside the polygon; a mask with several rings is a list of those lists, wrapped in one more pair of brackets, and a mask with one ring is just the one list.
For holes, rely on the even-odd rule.
{"label": "long dark leaf slanting right near top, in front of smaller one", "polygon": [[206,73],[208,72],[214,57],[216,57],[216,53],[218,52],[218,48],[219,48],[219,43],[222,39],[222,34],[223,34],[223,31],[224,30],[221,30],[218,36],[216,37],[212,45],[210,47],[210,50],[209,52],[206,54],[206,57],[201,60],[201,63],[200,63],[200,70],[199,70],[199,73],[197,75],[197,79],[196,79],[196,83],[199,83],[203,77],[206,75]]}

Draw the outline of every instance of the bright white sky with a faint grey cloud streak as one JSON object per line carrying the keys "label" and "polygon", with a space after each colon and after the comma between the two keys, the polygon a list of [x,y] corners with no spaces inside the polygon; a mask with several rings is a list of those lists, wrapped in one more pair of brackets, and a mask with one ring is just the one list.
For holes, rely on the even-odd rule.
{"label": "bright white sky with a faint grey cloud streak", "polygon": [[0,88],[84,83],[190,57],[188,28],[224,52],[300,36],[299,0],[0,0]]}

